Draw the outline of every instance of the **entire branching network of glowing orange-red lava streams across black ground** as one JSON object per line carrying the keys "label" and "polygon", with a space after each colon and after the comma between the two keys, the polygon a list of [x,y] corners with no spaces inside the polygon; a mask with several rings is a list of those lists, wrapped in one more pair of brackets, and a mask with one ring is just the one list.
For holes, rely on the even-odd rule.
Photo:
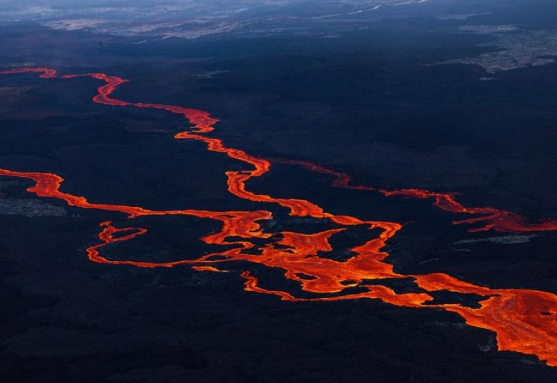
{"label": "entire branching network of glowing orange-red lava streams across black ground", "polygon": [[[16,74],[38,72],[42,78],[56,78],[55,70],[49,68],[19,68],[0,72],[0,74]],[[287,209],[290,216],[313,217],[327,219],[338,228],[324,230],[319,233],[303,234],[290,231],[266,233],[260,225],[263,220],[272,219],[267,210],[223,211],[208,210],[150,210],[139,206],[111,205],[109,203],[89,202],[84,196],[75,196],[61,191],[63,178],[52,173],[19,172],[0,169],[0,175],[33,180],[35,185],[27,189],[40,197],[58,198],[70,206],[83,209],[95,209],[121,212],[132,220],[136,217],[185,215],[201,219],[212,219],[221,222],[221,230],[201,238],[206,244],[226,245],[226,250],[210,253],[194,260],[176,260],[167,263],[153,263],[136,260],[111,260],[102,255],[102,249],[115,242],[133,240],[147,232],[141,227],[117,228],[111,221],[100,224],[99,242],[88,247],[87,255],[95,263],[109,265],[132,265],[136,267],[173,267],[191,265],[201,272],[226,271],[222,265],[231,261],[244,261],[265,267],[273,267],[284,271],[285,279],[298,283],[301,290],[312,294],[312,297],[297,297],[285,290],[267,290],[262,288],[256,276],[244,271],[241,276],[245,280],[247,291],[277,295],[288,301],[334,301],[340,299],[381,299],[387,304],[411,308],[441,308],[460,315],[466,323],[473,327],[489,329],[496,333],[499,350],[534,354],[549,366],[557,366],[557,296],[549,292],[521,289],[492,289],[460,281],[448,274],[398,274],[393,265],[386,263],[389,253],[384,251],[386,242],[392,238],[401,224],[386,221],[363,220],[348,215],[336,215],[325,212],[320,206],[303,199],[274,198],[265,194],[255,194],[246,189],[246,182],[251,178],[267,173],[272,161],[249,155],[243,150],[228,148],[221,139],[205,134],[214,130],[219,120],[214,119],[205,111],[175,107],[166,104],[150,104],[141,102],[125,102],[111,97],[112,93],[127,80],[103,73],[87,73],[82,75],[63,75],[59,79],[74,77],[91,77],[103,81],[93,101],[114,107],[137,107],[162,109],[173,114],[182,115],[192,125],[185,132],[175,135],[175,139],[201,141],[211,152],[223,153],[231,159],[251,166],[247,171],[227,171],[228,192],[249,201],[274,203]],[[471,214],[470,219],[455,221],[455,224],[482,223],[478,230],[499,230],[507,232],[524,232],[540,230],[557,230],[557,221],[544,221],[541,224],[530,224],[518,214],[497,210],[495,208],[467,208],[457,202],[453,194],[435,193],[427,190],[403,189],[395,191],[376,190],[372,187],[354,186],[350,176],[338,173],[308,162],[287,161],[290,164],[304,166],[306,169],[325,173],[334,178],[334,187],[362,190],[363,192],[379,192],[386,197],[405,196],[407,198],[432,198],[434,206],[455,214]],[[344,230],[359,226],[379,233],[371,240],[350,249],[352,257],[347,260],[333,260],[324,257],[334,249],[329,240]],[[270,243],[260,245],[258,240],[265,238]],[[230,247],[232,247],[230,249]],[[381,279],[408,279],[421,292],[397,293],[391,288],[382,286]],[[370,284],[376,280],[377,284]],[[354,288],[358,287],[358,292]],[[462,304],[435,304],[428,292],[449,291],[462,294],[476,294],[483,297],[478,308]]]}

